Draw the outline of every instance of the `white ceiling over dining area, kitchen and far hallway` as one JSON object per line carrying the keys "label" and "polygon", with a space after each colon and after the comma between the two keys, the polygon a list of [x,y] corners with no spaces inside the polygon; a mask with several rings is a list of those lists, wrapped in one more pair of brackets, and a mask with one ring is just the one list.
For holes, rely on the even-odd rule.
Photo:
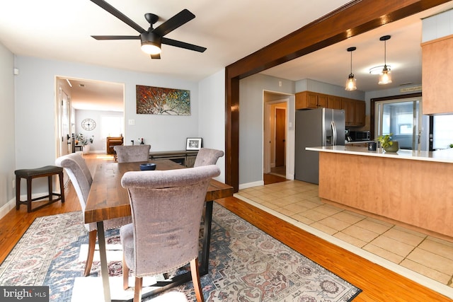
{"label": "white ceiling over dining area, kitchen and far hallway", "polygon": [[[166,37],[202,47],[203,53],[163,45],[161,59],[150,59],[140,50],[138,40],[94,40],[91,35],[138,35],[129,25],[89,0],[15,0],[0,4],[0,42],[16,55],[96,64],[131,71],[166,74],[190,81],[200,81],[238,59],[260,50],[294,30],[348,3],[347,0],[289,0],[275,5],[273,0],[107,0],[132,21],[147,29],[144,13],[156,13],[159,21],[171,18],[183,8],[196,18]],[[297,81],[314,79],[343,86],[350,73],[357,78],[357,89],[376,91],[407,83],[421,83],[421,18],[446,11],[453,1],[339,42],[323,50],[263,71],[263,74]],[[391,65],[394,83],[379,86],[377,76],[368,69],[384,63],[382,35],[391,35],[386,43],[387,64]],[[240,45],[240,47],[238,47]],[[72,79],[74,107],[93,110],[96,91],[110,91],[108,83]],[[115,83],[113,95],[122,103],[122,84]],[[120,91],[120,92],[119,92]],[[84,105],[85,104],[85,105]],[[91,105],[91,108],[86,108]],[[110,106],[110,108],[113,108]],[[121,105],[122,110],[122,105]]]}

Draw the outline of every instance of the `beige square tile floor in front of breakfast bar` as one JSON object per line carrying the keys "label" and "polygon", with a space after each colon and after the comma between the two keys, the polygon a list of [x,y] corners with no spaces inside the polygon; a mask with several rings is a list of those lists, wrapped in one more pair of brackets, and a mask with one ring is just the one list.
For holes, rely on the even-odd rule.
{"label": "beige square tile floor in front of breakfast bar", "polygon": [[251,187],[235,196],[453,289],[453,238],[429,236],[325,204],[317,185],[299,180]]}

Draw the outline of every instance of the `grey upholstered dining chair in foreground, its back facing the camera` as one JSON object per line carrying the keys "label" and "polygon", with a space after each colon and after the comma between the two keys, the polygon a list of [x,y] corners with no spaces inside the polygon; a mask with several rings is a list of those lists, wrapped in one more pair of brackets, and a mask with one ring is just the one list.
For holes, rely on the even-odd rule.
{"label": "grey upholstered dining chair in foreground, its back facing the camera", "polygon": [[134,302],[142,299],[142,277],[178,269],[190,262],[197,301],[204,301],[198,270],[202,207],[216,165],[176,170],[127,172],[132,223],[120,228],[123,284],[134,271]]}

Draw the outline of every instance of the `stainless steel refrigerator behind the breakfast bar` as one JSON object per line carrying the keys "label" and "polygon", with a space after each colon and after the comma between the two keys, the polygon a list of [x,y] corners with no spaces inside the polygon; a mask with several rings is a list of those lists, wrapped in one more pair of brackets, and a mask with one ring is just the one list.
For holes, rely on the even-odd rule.
{"label": "stainless steel refrigerator behind the breakfast bar", "polygon": [[345,144],[345,110],[296,110],[294,178],[319,183],[319,152],[306,147]]}

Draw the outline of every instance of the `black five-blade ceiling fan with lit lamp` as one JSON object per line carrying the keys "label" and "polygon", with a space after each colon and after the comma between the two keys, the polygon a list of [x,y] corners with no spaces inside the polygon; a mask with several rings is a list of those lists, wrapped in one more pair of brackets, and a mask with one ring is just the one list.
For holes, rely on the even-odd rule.
{"label": "black five-blade ceiling fan with lit lamp", "polygon": [[105,11],[108,11],[108,13],[111,13],[113,16],[139,32],[139,35],[92,35],[91,37],[96,40],[141,40],[142,50],[147,54],[150,54],[151,59],[161,58],[161,44],[180,47],[186,50],[194,50],[195,52],[204,52],[206,50],[206,47],[164,37],[164,35],[176,30],[176,28],[195,18],[195,15],[187,9],[183,9],[183,11],[180,11],[175,16],[169,18],[157,28],[153,28],[153,24],[159,20],[159,16],[154,15],[154,13],[145,13],[144,18],[147,19],[149,28],[148,30],[144,30],[144,28],[132,21],[130,18],[127,18],[125,14],[121,13],[104,0],[91,1],[94,4],[98,4],[98,6],[101,6],[101,8],[105,9]]}

